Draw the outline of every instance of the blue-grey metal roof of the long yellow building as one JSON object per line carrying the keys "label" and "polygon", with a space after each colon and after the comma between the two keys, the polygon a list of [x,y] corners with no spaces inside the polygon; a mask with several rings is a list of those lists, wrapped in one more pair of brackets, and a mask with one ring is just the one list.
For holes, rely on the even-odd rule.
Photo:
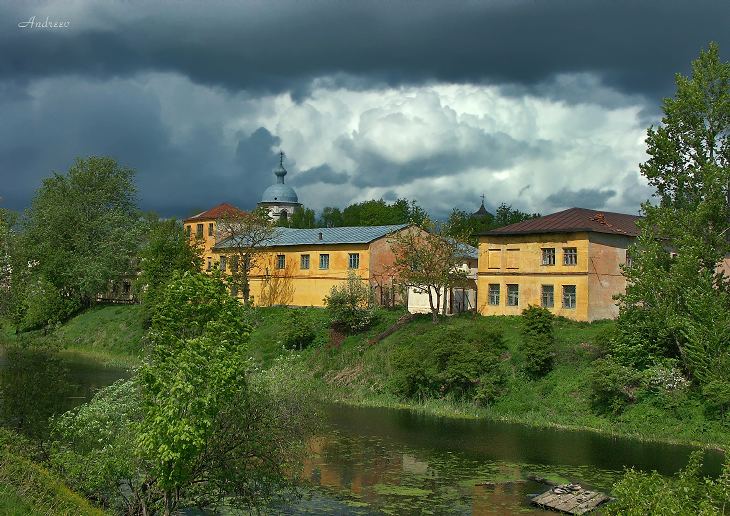
{"label": "blue-grey metal roof of the long yellow building", "polygon": [[[293,229],[276,228],[268,247],[325,244],[369,244],[386,235],[408,227],[408,224],[390,226],[352,226],[340,228]],[[218,249],[234,247],[232,239],[216,244]]]}

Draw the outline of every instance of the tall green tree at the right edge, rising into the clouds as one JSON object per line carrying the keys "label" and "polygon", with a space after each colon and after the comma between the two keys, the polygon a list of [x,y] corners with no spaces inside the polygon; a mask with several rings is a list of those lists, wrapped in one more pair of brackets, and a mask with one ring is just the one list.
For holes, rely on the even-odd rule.
{"label": "tall green tree at the right edge, rising into the clouds", "polygon": [[614,351],[635,367],[679,358],[708,392],[723,393],[730,278],[717,265],[730,253],[730,63],[711,44],[676,84],[647,132],[640,168],[657,202],[642,206]]}

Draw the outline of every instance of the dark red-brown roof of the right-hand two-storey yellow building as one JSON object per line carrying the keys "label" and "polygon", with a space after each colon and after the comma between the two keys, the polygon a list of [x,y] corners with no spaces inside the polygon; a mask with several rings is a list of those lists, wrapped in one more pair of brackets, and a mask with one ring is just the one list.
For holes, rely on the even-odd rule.
{"label": "dark red-brown roof of the right-hand two-storey yellow building", "polygon": [[637,236],[638,215],[612,213],[610,211],[570,208],[537,219],[525,220],[502,228],[480,233],[481,235],[527,235],[534,233],[577,233],[590,231],[614,235]]}

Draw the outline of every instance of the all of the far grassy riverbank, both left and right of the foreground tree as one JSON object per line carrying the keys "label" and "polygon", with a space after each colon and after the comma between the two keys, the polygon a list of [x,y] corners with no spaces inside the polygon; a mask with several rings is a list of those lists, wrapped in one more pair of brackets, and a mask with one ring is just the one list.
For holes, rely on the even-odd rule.
{"label": "all of the far grassy riverbank, both left and right of the foreground tree", "polygon": [[[58,342],[64,353],[96,361],[134,366],[142,357],[143,328],[139,306],[102,306],[86,311],[42,338]],[[602,334],[615,323],[555,323],[554,369],[544,378],[531,380],[519,372],[520,317],[450,317],[442,325],[456,335],[466,332],[504,335],[511,374],[503,394],[488,406],[452,398],[406,400],[392,393],[393,357],[403,349],[433,342],[438,328],[429,316],[417,316],[383,340],[372,339],[393,325],[405,312],[383,311],[368,331],[350,335],[333,345],[327,313],[320,309],[296,309],[311,326],[315,338],[302,352],[283,347],[282,335],[292,324],[295,309],[259,308],[253,313],[251,355],[263,368],[289,357],[286,367],[302,383],[312,383],[322,397],[356,405],[407,408],[445,417],[491,418],[534,426],[592,430],[646,440],[730,445],[730,432],[708,417],[696,393],[676,399],[637,399],[621,414],[597,413],[591,405],[591,363],[599,353]],[[11,332],[6,329],[6,339]],[[14,338],[14,337],[12,337]],[[38,337],[41,338],[41,337]]]}

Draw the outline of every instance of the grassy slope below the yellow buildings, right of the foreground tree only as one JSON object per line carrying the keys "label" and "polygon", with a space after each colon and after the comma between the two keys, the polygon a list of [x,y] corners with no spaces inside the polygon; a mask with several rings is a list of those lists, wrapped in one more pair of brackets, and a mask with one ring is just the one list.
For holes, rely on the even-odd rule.
{"label": "grassy slope below the yellow buildings, right of the foreground tree only", "polygon": [[[590,366],[601,344],[601,334],[613,321],[555,323],[555,367],[544,378],[530,380],[520,373],[518,351],[520,317],[461,315],[442,324],[461,332],[499,330],[511,355],[513,373],[503,396],[488,407],[449,398],[403,400],[389,392],[391,357],[404,347],[429,345],[437,333],[429,316],[418,316],[383,341],[371,345],[369,339],[395,322],[403,312],[387,311],[367,333],[347,337],[339,347],[331,347],[326,314],[312,315],[320,323],[315,345],[295,354],[301,381],[313,381],[331,400],[359,405],[402,407],[424,413],[453,417],[488,417],[535,426],[588,429],[602,433],[647,440],[686,442],[712,446],[730,444],[730,432],[705,414],[697,393],[675,402],[640,399],[620,415],[598,414],[590,400]],[[259,309],[259,323],[253,331],[253,356],[266,367],[278,355],[288,352],[278,344],[278,335],[287,324],[286,309]],[[319,343],[319,345],[317,345]]]}

